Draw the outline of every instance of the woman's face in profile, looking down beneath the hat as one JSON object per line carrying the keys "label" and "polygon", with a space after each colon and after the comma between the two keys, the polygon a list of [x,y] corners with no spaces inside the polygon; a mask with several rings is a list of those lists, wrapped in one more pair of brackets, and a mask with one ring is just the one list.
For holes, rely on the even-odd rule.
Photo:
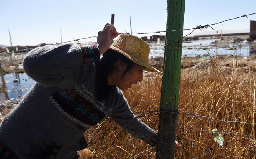
{"label": "woman's face in profile, looking down beneath the hat", "polygon": [[[127,69],[127,66],[124,66],[123,72]],[[126,91],[128,88],[132,87],[132,84],[137,84],[143,80],[143,70],[145,69],[144,66],[135,64],[130,70],[128,70],[123,77],[121,77],[120,81],[118,82],[118,87]]]}

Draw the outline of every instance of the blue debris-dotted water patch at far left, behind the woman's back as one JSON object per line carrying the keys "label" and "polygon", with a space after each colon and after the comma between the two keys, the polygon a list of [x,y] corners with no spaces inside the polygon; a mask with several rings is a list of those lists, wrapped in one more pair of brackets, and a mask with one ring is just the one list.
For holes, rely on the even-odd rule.
{"label": "blue debris-dotted water patch at far left, behind the woman's back", "polygon": [[[18,82],[13,82],[18,79]],[[5,74],[4,75],[7,96],[11,102],[20,99],[35,83],[27,74]],[[0,100],[4,100],[4,92],[1,92]]]}

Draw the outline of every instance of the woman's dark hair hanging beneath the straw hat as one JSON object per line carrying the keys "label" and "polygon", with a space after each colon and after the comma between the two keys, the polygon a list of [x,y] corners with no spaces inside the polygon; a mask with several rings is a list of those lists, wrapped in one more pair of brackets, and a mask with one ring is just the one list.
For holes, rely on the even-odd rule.
{"label": "woman's dark hair hanging beneath the straw hat", "polygon": [[123,54],[116,52],[114,50],[109,49],[103,54],[103,57],[100,61],[96,63],[97,65],[97,76],[99,81],[96,82],[96,96],[99,98],[108,98],[110,95],[110,91],[113,88],[108,85],[107,77],[110,73],[114,71],[115,63],[121,59],[123,63],[127,64],[127,68],[124,71],[121,79],[123,80],[123,76],[133,68],[135,63],[125,57]]}

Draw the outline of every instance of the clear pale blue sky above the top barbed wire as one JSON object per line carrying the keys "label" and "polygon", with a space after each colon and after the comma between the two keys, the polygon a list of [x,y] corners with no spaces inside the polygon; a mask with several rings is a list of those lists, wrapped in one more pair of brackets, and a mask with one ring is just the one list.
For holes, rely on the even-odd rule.
{"label": "clear pale blue sky above the top barbed wire", "polygon": [[[0,4],[0,44],[9,45],[11,31],[13,46],[59,43],[60,29],[62,41],[73,38],[97,36],[99,30],[115,14],[118,32],[155,32],[166,30],[167,0],[1,0]],[[256,12],[255,0],[186,0],[184,29],[197,25],[216,23]],[[250,20],[256,15],[239,18],[213,26],[223,33],[249,32]],[[184,31],[188,34],[189,31]],[[214,34],[211,28],[197,30],[193,35]],[[151,36],[152,34],[136,36]],[[163,35],[163,34],[161,34]],[[80,42],[96,41],[96,38]]]}

